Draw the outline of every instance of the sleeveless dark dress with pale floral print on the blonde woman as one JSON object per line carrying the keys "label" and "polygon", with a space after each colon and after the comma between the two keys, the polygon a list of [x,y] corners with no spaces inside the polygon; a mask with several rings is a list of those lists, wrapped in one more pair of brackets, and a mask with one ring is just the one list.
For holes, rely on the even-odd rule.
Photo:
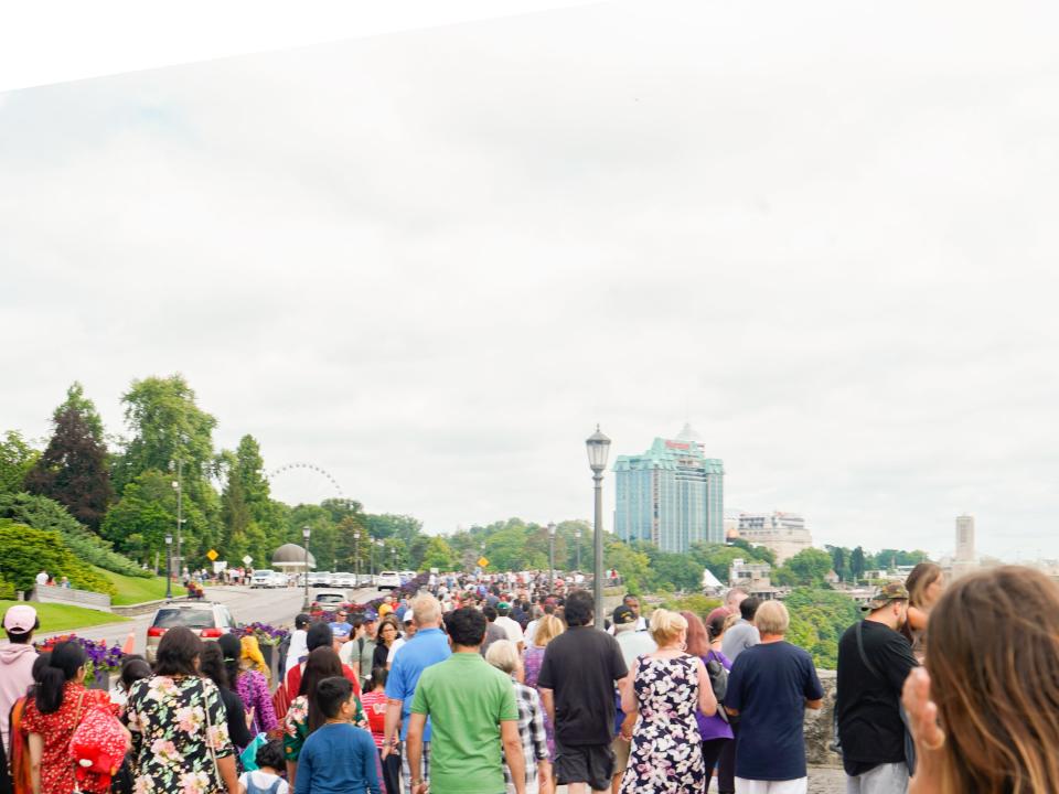
{"label": "sleeveless dark dress with pale floral print on the blonde woman", "polygon": [[692,794],[706,791],[706,765],[695,712],[695,656],[641,656],[633,679],[640,721],[632,736],[622,794]]}

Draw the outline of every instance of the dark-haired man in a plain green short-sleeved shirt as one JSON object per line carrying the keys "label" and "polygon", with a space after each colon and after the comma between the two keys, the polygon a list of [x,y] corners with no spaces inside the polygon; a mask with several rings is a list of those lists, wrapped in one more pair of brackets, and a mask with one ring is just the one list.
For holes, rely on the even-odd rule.
{"label": "dark-haired man in a plain green short-sleeved shirt", "polygon": [[[515,690],[511,678],[479,653],[485,616],[464,607],[450,612],[445,626],[452,655],[427,667],[416,685],[406,747],[409,766],[419,769],[422,730],[430,717],[430,794],[502,794],[503,759],[516,794],[525,794]],[[414,777],[411,794],[426,792],[427,784]]]}

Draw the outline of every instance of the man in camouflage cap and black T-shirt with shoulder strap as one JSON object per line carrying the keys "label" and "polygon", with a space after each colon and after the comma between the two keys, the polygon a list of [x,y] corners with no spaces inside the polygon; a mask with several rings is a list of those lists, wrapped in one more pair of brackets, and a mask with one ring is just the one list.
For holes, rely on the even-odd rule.
{"label": "man in camouflage cap and black T-shirt with shoulder strap", "polygon": [[905,794],[908,766],[901,688],[916,666],[899,630],[908,619],[908,590],[900,582],[880,588],[863,622],[838,641],[838,739],[849,775],[848,794]]}

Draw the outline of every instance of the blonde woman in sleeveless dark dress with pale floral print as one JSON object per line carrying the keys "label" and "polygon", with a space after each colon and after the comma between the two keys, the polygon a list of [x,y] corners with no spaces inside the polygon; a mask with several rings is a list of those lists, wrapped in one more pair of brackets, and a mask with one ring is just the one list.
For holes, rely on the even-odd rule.
{"label": "blonde woman in sleeveless dark dress with pale floral print", "polygon": [[[706,788],[696,711],[712,717],[717,699],[706,666],[685,653],[687,620],[677,612],[651,615],[654,653],[639,657],[621,694],[622,738],[632,742],[622,794],[698,794]],[[632,721],[639,716],[635,728]]]}

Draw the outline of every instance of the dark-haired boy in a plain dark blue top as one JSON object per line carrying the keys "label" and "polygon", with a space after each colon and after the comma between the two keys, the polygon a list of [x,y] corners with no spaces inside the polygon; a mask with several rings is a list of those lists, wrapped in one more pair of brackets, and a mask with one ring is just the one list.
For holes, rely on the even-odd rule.
{"label": "dark-haired boy in a plain dark blue top", "polygon": [[352,723],[353,685],[342,676],[317,685],[315,707],[325,721],[298,755],[295,794],[382,794],[372,734]]}

